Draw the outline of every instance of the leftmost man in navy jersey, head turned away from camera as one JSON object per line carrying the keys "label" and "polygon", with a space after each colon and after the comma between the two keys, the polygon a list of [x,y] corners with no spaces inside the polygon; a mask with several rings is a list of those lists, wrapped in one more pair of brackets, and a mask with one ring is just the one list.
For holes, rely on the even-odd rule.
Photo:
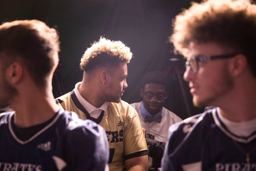
{"label": "leftmost man in navy jersey, head turned away from camera", "polygon": [[108,170],[101,126],[64,111],[52,94],[59,37],[39,20],[0,26],[0,170]]}

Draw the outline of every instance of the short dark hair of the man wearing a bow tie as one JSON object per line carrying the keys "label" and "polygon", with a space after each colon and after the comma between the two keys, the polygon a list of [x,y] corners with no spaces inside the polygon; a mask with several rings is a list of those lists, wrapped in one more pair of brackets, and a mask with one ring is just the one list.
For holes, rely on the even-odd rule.
{"label": "short dark hair of the man wearing a bow tie", "polygon": [[161,71],[150,71],[146,73],[141,80],[140,88],[143,90],[145,85],[149,83],[161,84],[165,87],[166,92],[168,92],[167,77]]}

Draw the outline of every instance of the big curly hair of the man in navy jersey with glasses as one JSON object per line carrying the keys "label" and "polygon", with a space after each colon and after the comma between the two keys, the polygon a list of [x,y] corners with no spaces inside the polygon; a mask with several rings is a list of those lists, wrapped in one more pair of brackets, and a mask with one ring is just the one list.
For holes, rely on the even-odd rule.
{"label": "big curly hair of the man in navy jersey with glasses", "polygon": [[216,42],[234,53],[247,57],[256,76],[256,5],[245,0],[209,0],[193,3],[174,20],[175,50],[186,56],[191,41]]}

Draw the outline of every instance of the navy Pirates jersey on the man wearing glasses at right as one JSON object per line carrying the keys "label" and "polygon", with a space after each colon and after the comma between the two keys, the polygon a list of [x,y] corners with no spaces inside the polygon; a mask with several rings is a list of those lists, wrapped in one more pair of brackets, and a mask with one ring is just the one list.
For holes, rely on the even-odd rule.
{"label": "navy Pirates jersey on the man wearing glasses at right", "polygon": [[256,125],[251,135],[239,137],[226,128],[216,109],[174,124],[162,170],[256,170]]}

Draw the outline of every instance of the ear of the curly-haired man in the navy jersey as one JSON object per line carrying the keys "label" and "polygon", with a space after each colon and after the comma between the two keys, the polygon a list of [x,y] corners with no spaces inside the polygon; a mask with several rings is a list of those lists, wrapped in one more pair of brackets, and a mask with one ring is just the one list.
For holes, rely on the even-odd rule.
{"label": "ear of the curly-haired man in the navy jersey", "polygon": [[247,59],[243,54],[233,57],[229,63],[229,70],[232,76],[239,76],[247,67]]}

